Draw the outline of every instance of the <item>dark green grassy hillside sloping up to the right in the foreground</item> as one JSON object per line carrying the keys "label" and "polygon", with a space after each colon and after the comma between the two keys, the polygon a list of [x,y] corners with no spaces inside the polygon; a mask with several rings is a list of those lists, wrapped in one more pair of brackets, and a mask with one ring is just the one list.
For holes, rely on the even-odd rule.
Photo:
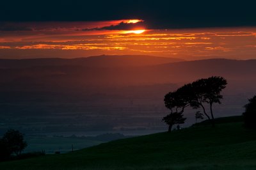
{"label": "dark green grassy hillside sloping up to the right in the foreground", "polygon": [[191,127],[2,162],[0,169],[256,169],[256,131],[225,120],[215,128]]}

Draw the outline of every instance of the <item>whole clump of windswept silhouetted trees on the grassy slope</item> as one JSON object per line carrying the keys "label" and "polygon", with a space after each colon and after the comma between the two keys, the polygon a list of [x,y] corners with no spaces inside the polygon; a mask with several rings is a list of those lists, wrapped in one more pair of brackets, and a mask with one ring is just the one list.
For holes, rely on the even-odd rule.
{"label": "whole clump of windswept silhouetted trees on the grassy slope", "polygon": [[[163,121],[169,125],[169,131],[172,125],[184,123],[186,118],[183,118],[183,112],[189,105],[194,109],[201,107],[204,115],[211,120],[214,126],[212,104],[221,104],[220,100],[223,98],[221,91],[226,85],[227,81],[223,77],[212,76],[207,79],[198,79],[185,84],[176,91],[167,93],[164,96],[164,104],[170,109],[170,114],[165,116]],[[205,104],[209,104],[211,116],[207,113]]]}

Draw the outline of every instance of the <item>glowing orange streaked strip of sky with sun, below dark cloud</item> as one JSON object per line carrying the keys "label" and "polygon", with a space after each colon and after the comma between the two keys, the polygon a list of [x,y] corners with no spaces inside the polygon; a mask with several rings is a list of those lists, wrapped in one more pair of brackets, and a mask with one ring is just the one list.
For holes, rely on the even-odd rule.
{"label": "glowing orange streaked strip of sky with sun, below dark cloud", "polygon": [[256,59],[256,27],[118,29],[138,23],[143,20],[6,23],[17,29],[0,31],[0,58],[146,54],[188,60]]}

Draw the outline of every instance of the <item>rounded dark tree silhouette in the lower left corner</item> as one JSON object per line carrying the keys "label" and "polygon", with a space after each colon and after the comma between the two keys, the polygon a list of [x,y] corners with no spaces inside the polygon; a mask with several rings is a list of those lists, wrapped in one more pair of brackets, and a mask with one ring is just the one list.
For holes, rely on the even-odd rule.
{"label": "rounded dark tree silhouette in the lower left corner", "polygon": [[28,145],[24,141],[24,135],[19,132],[19,130],[8,130],[3,135],[3,142],[7,144],[7,148],[10,153],[15,153],[16,155],[20,155],[21,151],[26,148]]}

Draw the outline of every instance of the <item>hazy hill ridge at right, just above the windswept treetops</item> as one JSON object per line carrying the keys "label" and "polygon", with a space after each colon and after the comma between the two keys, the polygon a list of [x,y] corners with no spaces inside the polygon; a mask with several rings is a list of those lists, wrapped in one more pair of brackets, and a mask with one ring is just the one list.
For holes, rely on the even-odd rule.
{"label": "hazy hill ridge at right, just above the windswept treetops", "polygon": [[[256,59],[204,59],[184,61],[179,63],[166,63],[152,66],[152,72],[161,72],[163,77],[175,81],[193,81],[202,77],[219,75],[228,80],[254,80],[256,73]],[[153,71],[154,70],[154,71]]]}

